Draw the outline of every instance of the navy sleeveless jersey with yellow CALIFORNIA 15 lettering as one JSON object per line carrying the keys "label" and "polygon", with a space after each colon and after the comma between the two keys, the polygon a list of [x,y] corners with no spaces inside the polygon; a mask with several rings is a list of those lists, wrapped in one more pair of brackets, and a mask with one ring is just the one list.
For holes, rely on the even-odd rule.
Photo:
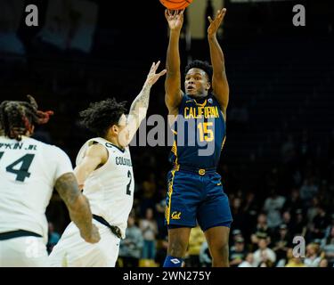
{"label": "navy sleeveless jersey with yellow CALIFORNIA 15 lettering", "polygon": [[223,111],[213,94],[202,99],[183,95],[169,157],[175,167],[216,168],[223,150],[226,127]]}

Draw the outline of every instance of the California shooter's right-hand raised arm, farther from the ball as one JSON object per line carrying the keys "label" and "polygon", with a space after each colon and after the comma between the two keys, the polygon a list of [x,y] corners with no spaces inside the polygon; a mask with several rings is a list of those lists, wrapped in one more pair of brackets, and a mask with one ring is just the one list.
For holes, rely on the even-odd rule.
{"label": "California shooter's right-hand raised arm, farther from the ball", "polygon": [[218,43],[216,33],[222,24],[225,13],[226,9],[224,8],[222,10],[218,10],[215,20],[208,17],[208,20],[210,21],[210,26],[208,27],[208,45],[210,46],[211,63],[214,69],[212,88],[214,95],[216,96],[216,100],[219,102],[224,114],[226,114],[229,102],[230,89],[225,72],[224,53]]}

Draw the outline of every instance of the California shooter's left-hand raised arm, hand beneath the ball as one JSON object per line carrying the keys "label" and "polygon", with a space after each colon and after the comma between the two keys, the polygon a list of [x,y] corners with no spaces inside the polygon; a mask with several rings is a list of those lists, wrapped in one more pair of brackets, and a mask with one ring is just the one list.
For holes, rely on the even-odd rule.
{"label": "California shooter's left-hand raised arm, hand beneath the ball", "polygon": [[165,16],[169,26],[169,44],[167,49],[167,77],[165,81],[165,102],[169,114],[178,113],[178,107],[182,101],[183,92],[181,91],[181,62],[179,52],[179,39],[183,26],[184,10],[165,11]]}

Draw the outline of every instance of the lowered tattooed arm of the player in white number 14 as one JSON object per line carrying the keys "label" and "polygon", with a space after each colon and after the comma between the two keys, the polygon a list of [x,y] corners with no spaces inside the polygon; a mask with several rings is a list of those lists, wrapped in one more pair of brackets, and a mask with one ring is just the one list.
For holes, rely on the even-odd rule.
{"label": "lowered tattooed arm of the player in white number 14", "polygon": [[100,234],[92,223],[93,216],[89,202],[79,191],[76,176],[72,173],[61,175],[54,187],[69,209],[70,219],[77,224],[81,237],[90,243],[98,242]]}

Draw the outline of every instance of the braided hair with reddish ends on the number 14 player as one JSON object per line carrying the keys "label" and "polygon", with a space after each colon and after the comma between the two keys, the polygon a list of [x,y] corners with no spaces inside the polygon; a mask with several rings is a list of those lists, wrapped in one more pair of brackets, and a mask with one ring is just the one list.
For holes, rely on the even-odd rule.
{"label": "braided hair with reddish ends on the number 14 player", "polygon": [[0,104],[0,129],[4,136],[20,141],[22,135],[32,133],[35,124],[46,124],[53,115],[52,110],[38,110],[36,100],[27,96],[29,102],[4,101]]}

